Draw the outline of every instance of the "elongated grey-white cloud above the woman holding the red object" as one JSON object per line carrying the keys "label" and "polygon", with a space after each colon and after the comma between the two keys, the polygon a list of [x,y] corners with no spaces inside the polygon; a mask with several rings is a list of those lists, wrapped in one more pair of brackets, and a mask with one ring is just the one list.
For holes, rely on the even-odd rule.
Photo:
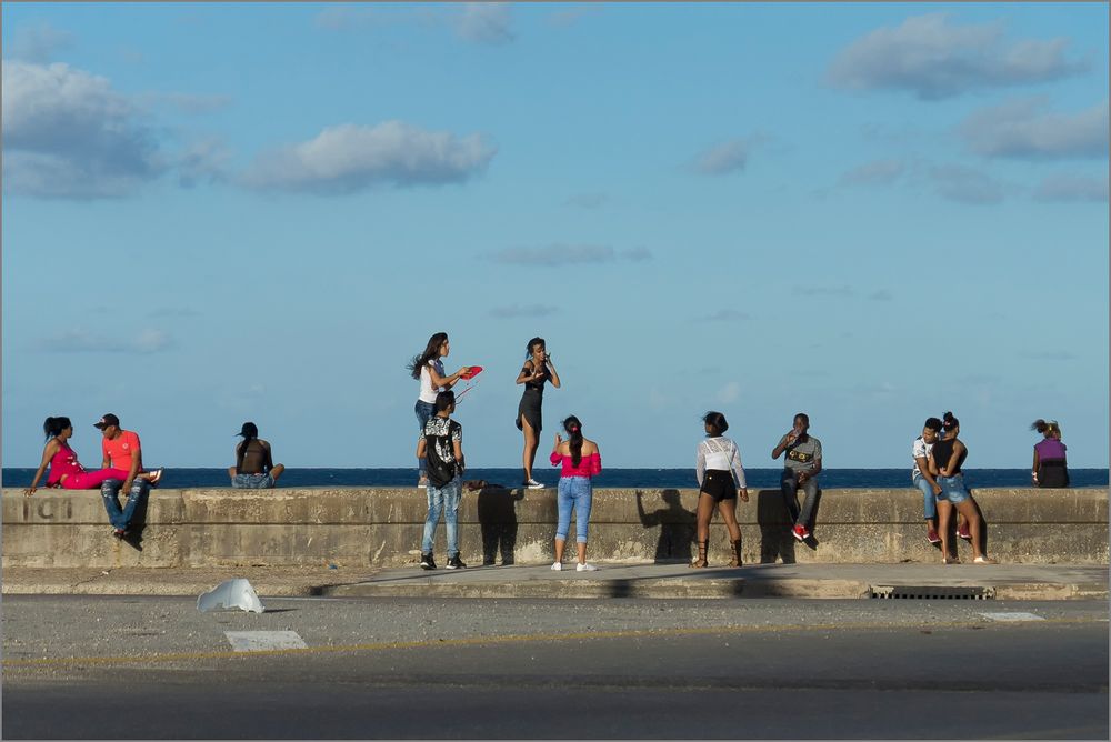
{"label": "elongated grey-white cloud above the woman holding the red object", "polygon": [[263,190],[314,193],[461,183],[483,171],[496,152],[479,134],[460,138],[403,121],[346,123],[259,156],[242,180]]}

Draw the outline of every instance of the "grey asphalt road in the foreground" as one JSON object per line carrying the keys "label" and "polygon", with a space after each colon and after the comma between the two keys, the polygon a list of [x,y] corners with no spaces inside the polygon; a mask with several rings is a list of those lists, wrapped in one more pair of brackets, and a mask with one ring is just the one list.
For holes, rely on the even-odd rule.
{"label": "grey asphalt road in the foreground", "polygon": [[[1107,739],[1108,604],[3,600],[6,739]],[[1011,619],[1011,620],[1008,620]],[[227,632],[303,642],[237,652]],[[234,634],[232,634],[234,636]],[[242,638],[240,638],[242,639]]]}

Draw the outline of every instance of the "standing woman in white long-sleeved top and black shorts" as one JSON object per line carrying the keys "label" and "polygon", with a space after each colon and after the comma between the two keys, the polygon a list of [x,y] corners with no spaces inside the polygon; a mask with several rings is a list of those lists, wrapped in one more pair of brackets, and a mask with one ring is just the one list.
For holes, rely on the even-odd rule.
{"label": "standing woman in white long-sleeved top and black shorts", "polygon": [[[741,527],[737,524],[737,498],[749,501],[748,484],[744,481],[744,468],[741,467],[741,452],[737,443],[722,435],[729,430],[725,415],[720,412],[707,412],[702,418],[705,423],[705,440],[698,444],[698,559],[691,566],[703,569],[709,563],[705,560],[710,541],[710,521],[713,519],[714,505],[729,529],[729,540],[733,544],[733,559],[730,566],[741,565]],[[735,477],[735,481],[734,481]]]}

